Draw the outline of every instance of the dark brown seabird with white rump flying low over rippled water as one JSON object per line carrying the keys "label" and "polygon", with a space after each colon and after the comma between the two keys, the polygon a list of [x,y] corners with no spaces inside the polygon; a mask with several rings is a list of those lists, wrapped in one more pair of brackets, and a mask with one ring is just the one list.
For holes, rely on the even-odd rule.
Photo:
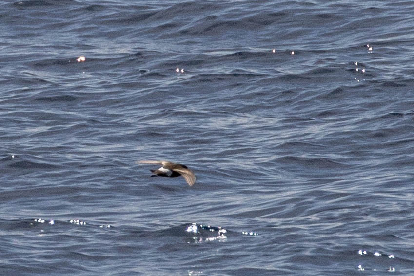
{"label": "dark brown seabird with white rump flying low over rippled water", "polygon": [[137,161],[137,164],[161,164],[162,167],[158,170],[150,170],[152,177],[184,177],[188,185],[193,186],[196,183],[196,176],[193,171],[187,168],[186,165],[177,164],[170,161],[155,161],[155,160],[143,160]]}

